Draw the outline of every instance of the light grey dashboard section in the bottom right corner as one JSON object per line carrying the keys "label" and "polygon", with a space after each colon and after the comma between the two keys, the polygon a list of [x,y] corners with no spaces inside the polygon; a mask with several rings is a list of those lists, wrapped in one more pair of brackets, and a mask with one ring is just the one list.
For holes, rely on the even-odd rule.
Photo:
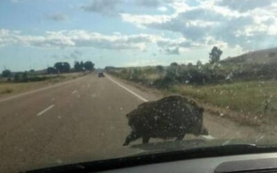
{"label": "light grey dashboard section in the bottom right corner", "polygon": [[184,161],[172,161],[167,163],[154,163],[150,165],[125,167],[105,172],[277,172],[277,152],[266,154],[244,154],[211,158],[195,158]]}

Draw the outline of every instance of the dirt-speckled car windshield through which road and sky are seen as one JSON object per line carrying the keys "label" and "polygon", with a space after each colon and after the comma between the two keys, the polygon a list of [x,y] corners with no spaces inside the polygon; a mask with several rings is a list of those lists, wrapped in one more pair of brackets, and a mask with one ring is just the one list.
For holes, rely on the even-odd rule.
{"label": "dirt-speckled car windshield through which road and sky are seen", "polygon": [[0,172],[232,140],[276,145],[276,9],[1,0]]}

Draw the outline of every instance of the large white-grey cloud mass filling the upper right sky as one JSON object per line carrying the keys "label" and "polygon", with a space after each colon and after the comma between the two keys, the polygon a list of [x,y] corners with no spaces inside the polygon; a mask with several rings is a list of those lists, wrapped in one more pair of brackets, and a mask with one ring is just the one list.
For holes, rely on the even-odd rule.
{"label": "large white-grey cloud mass filling the upper right sky", "polygon": [[[245,50],[277,46],[277,10],[269,6],[271,1],[256,2],[243,12],[239,6],[234,6],[234,3],[240,4],[240,1],[230,1],[230,6],[218,5],[223,2],[227,1],[206,0],[199,1],[198,6],[188,6],[184,1],[177,1],[170,5],[175,9],[172,15],[125,13],[120,17],[123,21],[141,28],[181,33],[190,46],[191,43],[204,45],[217,42],[224,42],[229,46],[240,45]],[[245,6],[247,3],[251,3],[251,0],[242,1]],[[183,8],[179,8],[180,6]],[[208,37],[213,39],[207,41]]]}

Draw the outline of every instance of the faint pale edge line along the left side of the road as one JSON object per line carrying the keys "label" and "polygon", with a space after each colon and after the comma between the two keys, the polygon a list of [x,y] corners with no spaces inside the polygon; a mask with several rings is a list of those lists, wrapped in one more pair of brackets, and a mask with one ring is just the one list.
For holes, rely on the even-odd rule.
{"label": "faint pale edge line along the left side of the road", "polygon": [[[86,77],[86,76],[84,76],[84,77]],[[77,78],[77,79],[75,79],[75,80],[70,80],[70,81],[67,81],[67,82],[62,82],[62,83],[60,83],[60,84],[54,84],[54,85],[51,85],[51,86],[46,86],[46,87],[44,87],[44,88],[42,88],[42,89],[37,89],[37,90],[33,90],[33,91],[28,91],[28,92],[26,92],[26,93],[20,93],[20,94],[18,94],[18,95],[12,95],[12,96],[10,96],[9,98],[0,99],[0,102],[12,100],[12,99],[15,99],[15,98],[20,98],[20,97],[22,97],[22,96],[24,96],[24,95],[29,95],[29,94],[32,94],[32,93],[38,93],[38,92],[40,92],[40,91],[45,91],[45,90],[48,90],[48,89],[57,88],[57,87],[59,87],[59,86],[64,86],[64,85],[66,85],[66,84],[71,84],[71,83],[73,83],[73,82],[76,82],[77,80],[80,80],[80,79],[84,78],[84,77],[80,77],[80,78]]]}

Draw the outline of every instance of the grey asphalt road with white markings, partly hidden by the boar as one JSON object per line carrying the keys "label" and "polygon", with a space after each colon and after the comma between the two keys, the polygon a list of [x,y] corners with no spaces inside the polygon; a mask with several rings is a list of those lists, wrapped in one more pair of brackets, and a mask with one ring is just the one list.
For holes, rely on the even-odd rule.
{"label": "grey asphalt road with white markings, partly hidden by the boar", "polygon": [[[161,95],[96,74],[1,98],[0,172],[134,153],[134,149],[122,146],[129,134],[125,114],[142,102],[159,98]],[[242,136],[241,127],[219,121],[224,122],[208,115],[205,118],[215,137],[253,134],[251,129],[241,129],[249,131]],[[233,133],[233,128],[238,133]]]}

